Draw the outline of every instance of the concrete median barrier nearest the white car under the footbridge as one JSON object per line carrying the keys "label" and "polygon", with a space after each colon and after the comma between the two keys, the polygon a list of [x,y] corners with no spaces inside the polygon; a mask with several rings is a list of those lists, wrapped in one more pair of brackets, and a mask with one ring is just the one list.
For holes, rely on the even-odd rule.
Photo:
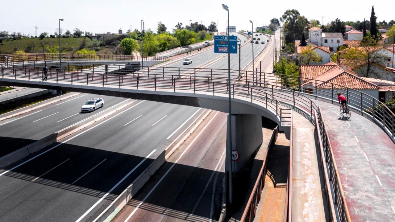
{"label": "concrete median barrier nearest the white car under the footbridge", "polygon": [[109,110],[103,112],[98,117],[91,117],[91,119],[88,119],[87,122],[83,121],[83,122],[79,122],[77,124],[71,125],[68,128],[60,130],[60,131],[53,133],[51,135],[48,135],[47,137],[44,137],[34,143],[31,143],[25,147],[22,147],[21,149],[19,149],[17,151],[11,152],[11,153],[7,154],[6,156],[3,156],[2,158],[0,158],[0,167],[6,167],[9,164],[15,163],[18,160],[21,160],[34,152],[40,151],[41,149],[44,149],[45,147],[60,141],[64,137],[71,135],[79,130],[82,130],[83,128],[86,128],[86,127],[94,124],[95,122],[98,122],[117,111],[120,111],[121,109],[127,107],[128,105],[130,105],[134,102],[135,102],[135,100],[125,103],[119,107],[113,107],[112,109],[109,109]]}

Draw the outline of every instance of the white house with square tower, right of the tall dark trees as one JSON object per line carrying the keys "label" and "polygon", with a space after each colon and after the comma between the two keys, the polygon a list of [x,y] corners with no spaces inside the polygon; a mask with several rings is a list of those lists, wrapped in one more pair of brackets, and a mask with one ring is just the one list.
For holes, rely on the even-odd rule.
{"label": "white house with square tower, right of the tall dark trees", "polygon": [[331,51],[343,45],[343,35],[340,32],[322,32],[321,28],[312,27],[308,30],[308,41],[316,45],[329,46]]}

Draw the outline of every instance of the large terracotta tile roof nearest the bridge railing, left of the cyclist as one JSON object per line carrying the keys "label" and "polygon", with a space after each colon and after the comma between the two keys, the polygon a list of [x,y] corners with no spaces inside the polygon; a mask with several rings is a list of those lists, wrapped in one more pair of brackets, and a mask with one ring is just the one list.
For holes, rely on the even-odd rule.
{"label": "large terracotta tile roof nearest the bridge railing, left of the cyclist", "polygon": [[[317,81],[316,81],[317,80]],[[310,80],[309,82],[303,83],[302,86],[312,84],[318,88],[332,88],[332,83],[335,84],[335,88],[354,88],[354,89],[379,89],[377,85],[361,79],[352,72],[344,71],[339,66],[332,68],[324,74],[316,77],[316,80]],[[317,85],[316,85],[317,84]],[[344,87],[340,87],[340,86]]]}

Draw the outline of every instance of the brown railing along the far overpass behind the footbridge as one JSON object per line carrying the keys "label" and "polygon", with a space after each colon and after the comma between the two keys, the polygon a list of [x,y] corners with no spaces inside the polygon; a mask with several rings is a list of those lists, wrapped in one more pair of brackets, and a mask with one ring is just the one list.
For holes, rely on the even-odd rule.
{"label": "brown railing along the far overpass behind the footbridge", "polygon": [[[142,60],[141,56],[133,55],[93,55],[61,53],[62,60]],[[58,53],[25,53],[0,55],[0,63],[20,61],[54,61],[59,60]],[[167,60],[167,56],[143,56],[144,61]]]}

